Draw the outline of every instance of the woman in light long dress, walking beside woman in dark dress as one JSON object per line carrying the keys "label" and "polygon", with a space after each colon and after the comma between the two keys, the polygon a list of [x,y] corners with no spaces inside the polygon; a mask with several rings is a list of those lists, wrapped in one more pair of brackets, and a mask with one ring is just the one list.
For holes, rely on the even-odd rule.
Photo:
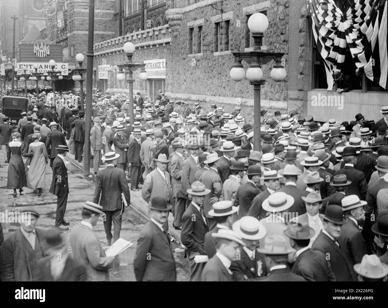
{"label": "woman in light long dress, walking beside woman in dark dress", "polygon": [[42,188],[45,186],[46,180],[46,164],[49,162],[46,146],[40,142],[40,133],[36,132],[32,135],[34,140],[29,145],[28,154],[29,160],[27,164],[27,187],[29,189],[38,189],[38,196],[42,194]]}

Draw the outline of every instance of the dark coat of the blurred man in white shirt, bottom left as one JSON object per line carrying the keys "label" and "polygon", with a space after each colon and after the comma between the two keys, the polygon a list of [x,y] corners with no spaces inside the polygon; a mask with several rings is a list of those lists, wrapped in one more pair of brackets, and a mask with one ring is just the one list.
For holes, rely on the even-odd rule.
{"label": "dark coat of the blurred man in white shirt, bottom left", "polygon": [[54,280],[51,275],[50,257],[45,257],[38,262],[38,281],[87,281],[86,268],[68,257],[61,277]]}

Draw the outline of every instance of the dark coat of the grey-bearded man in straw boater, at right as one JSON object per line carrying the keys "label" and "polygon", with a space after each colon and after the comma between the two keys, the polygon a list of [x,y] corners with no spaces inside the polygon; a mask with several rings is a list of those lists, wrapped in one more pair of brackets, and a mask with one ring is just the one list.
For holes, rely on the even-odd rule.
{"label": "dark coat of the grey-bearded man in straw boater, at right", "polygon": [[353,265],[361,263],[362,257],[367,254],[367,250],[364,237],[362,237],[359,227],[352,219],[348,218],[348,221],[342,225],[338,242],[345,255],[353,281],[357,281],[358,274],[354,271]]}

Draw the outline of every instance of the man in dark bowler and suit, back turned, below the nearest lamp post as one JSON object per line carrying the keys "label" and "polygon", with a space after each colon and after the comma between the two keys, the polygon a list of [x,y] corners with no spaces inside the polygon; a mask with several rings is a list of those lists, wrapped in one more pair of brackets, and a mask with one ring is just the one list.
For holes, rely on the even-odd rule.
{"label": "man in dark bowler and suit, back turned, below the nearest lamp post", "polygon": [[234,206],[239,205],[238,219],[248,215],[253,199],[262,191],[256,186],[260,183],[260,166],[251,165],[247,170],[248,181],[242,184],[234,197]]}

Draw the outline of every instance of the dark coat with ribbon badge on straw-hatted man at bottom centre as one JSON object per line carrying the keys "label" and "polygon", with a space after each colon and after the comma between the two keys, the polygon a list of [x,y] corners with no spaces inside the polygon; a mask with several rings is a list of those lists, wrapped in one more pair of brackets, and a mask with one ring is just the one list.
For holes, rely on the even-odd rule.
{"label": "dark coat with ribbon badge on straw-hatted man at bottom centre", "polygon": [[240,248],[240,259],[232,262],[230,270],[237,281],[265,277],[268,273],[265,255],[256,250],[255,261],[252,261],[243,248]]}

